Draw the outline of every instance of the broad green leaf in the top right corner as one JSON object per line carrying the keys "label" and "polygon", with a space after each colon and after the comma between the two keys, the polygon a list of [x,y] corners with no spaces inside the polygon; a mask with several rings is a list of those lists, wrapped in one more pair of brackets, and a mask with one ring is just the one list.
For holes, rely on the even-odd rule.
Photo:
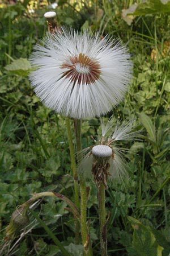
{"label": "broad green leaf in the top right corner", "polygon": [[148,0],[140,5],[137,9],[129,15],[146,15],[146,14],[160,14],[170,12],[170,2],[161,0]]}

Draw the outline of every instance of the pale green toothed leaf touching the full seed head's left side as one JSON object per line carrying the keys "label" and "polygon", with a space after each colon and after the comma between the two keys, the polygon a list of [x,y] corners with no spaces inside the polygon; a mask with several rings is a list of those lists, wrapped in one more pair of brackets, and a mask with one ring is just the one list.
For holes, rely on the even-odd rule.
{"label": "pale green toothed leaf touching the full seed head's left side", "polygon": [[20,58],[6,65],[5,69],[19,76],[27,76],[28,71],[31,69],[31,64],[27,59]]}

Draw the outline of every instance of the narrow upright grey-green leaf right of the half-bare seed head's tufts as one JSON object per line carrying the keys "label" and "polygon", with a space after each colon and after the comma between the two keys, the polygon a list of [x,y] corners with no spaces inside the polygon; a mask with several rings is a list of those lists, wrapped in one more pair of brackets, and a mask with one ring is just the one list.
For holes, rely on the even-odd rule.
{"label": "narrow upright grey-green leaf right of the half-bare seed head's tufts", "polygon": [[152,142],[156,143],[156,131],[155,126],[152,124],[150,117],[148,117],[145,113],[139,114],[140,121],[142,125],[146,128],[147,133],[150,135],[150,139]]}

